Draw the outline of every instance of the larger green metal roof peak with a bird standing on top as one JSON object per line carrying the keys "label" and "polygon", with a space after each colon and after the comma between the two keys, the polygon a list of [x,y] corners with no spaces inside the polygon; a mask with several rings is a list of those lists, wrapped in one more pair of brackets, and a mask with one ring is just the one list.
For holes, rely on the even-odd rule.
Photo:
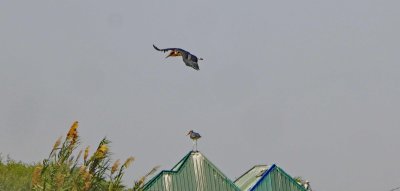
{"label": "larger green metal roof peak with a bird standing on top", "polygon": [[161,171],[144,186],[144,191],[239,191],[200,152],[189,152],[171,170]]}

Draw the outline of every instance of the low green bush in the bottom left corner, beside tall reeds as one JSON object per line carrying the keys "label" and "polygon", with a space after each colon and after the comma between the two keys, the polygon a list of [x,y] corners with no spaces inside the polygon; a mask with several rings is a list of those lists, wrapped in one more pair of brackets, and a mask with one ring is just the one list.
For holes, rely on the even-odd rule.
{"label": "low green bush in the bottom left corner, beside tall reeds", "polygon": [[30,190],[33,169],[34,165],[16,162],[9,157],[4,162],[0,155],[0,190]]}

